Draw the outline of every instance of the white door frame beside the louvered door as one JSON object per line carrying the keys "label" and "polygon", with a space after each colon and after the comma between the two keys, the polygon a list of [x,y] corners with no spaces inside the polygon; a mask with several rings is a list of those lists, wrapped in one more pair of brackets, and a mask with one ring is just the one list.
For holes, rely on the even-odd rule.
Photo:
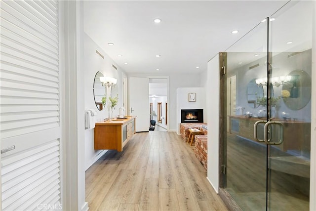
{"label": "white door frame beside the louvered door", "polygon": [[[61,201],[63,210],[87,211],[84,169],[83,1],[60,1]],[[82,129],[80,129],[82,128]]]}

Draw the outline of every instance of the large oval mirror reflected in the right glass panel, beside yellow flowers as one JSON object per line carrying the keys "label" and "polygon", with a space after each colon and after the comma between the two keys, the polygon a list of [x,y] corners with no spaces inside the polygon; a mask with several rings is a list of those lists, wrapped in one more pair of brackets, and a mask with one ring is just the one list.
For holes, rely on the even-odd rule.
{"label": "large oval mirror reflected in the right glass panel, beside yellow flowers", "polygon": [[289,109],[300,110],[311,100],[312,79],[303,70],[294,70],[289,73],[289,76],[291,79],[283,84],[281,96]]}

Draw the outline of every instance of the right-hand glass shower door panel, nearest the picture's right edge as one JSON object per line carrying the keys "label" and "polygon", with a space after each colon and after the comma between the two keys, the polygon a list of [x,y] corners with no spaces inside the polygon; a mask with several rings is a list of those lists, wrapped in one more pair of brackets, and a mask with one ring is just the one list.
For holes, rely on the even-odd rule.
{"label": "right-hand glass shower door panel, nearest the picture's right edge", "polygon": [[283,142],[268,149],[268,210],[309,210],[314,3],[290,1],[270,17],[273,121]]}

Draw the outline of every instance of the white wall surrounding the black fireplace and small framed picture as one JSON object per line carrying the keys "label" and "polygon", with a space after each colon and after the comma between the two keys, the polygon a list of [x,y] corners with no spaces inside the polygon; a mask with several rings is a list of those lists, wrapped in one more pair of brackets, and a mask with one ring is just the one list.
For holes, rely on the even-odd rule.
{"label": "white wall surrounding the black fireplace and small framed picture", "polygon": [[[196,102],[189,102],[189,93],[196,93]],[[177,133],[180,135],[181,109],[203,109],[203,122],[207,123],[205,88],[181,87],[177,88]]]}

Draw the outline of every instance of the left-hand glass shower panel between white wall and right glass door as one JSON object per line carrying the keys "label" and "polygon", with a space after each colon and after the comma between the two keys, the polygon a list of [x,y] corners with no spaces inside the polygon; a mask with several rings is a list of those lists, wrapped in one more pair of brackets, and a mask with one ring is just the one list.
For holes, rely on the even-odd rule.
{"label": "left-hand glass shower panel between white wall and right glass door", "polygon": [[[267,206],[267,145],[257,142],[254,124],[268,120],[267,21],[260,23],[224,53],[227,67],[225,190],[242,210],[264,211]],[[258,81],[262,79],[262,81]],[[263,139],[264,124],[258,125]]]}

